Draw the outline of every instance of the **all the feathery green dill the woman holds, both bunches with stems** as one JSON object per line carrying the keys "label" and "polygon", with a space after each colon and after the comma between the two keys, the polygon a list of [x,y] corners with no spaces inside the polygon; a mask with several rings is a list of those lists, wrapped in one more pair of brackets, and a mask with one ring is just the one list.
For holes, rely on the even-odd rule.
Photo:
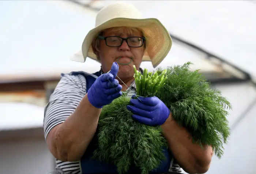
{"label": "all the feathery green dill the woman holds, both bunches with stems", "polygon": [[[226,109],[231,105],[221,91],[211,89],[210,84],[197,71],[190,71],[190,62],[182,66],[158,68],[158,79],[164,73],[161,90],[153,91],[148,84],[154,82],[156,74],[148,73],[149,79],[137,75],[135,82],[137,93],[150,97],[155,95],[165,103],[178,124],[187,128],[195,143],[211,145],[215,155],[223,155],[223,143],[227,143],[230,129]],[[147,73],[147,70],[144,72]],[[148,77],[148,76],[147,76]],[[152,80],[153,79],[153,80]],[[163,80],[163,79],[162,79]],[[145,82],[145,83],[144,83]],[[148,83],[150,82],[150,83]],[[149,89],[146,90],[145,89]],[[164,159],[162,147],[167,142],[159,126],[147,126],[132,119],[132,113],[126,107],[131,98],[123,95],[102,108],[98,124],[98,148],[94,157],[117,166],[119,173],[129,170],[132,163],[138,166],[142,174],[155,169]]]}

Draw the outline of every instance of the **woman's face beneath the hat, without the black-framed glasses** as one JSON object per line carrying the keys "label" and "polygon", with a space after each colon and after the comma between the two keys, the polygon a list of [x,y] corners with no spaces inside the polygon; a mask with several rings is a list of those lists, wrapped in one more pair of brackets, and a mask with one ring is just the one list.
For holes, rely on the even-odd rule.
{"label": "woman's face beneath the hat, without the black-framed glasses", "polygon": [[[126,27],[115,27],[107,29],[103,32],[103,37],[119,36],[122,38],[127,37],[143,37],[139,30],[131,30]],[[133,77],[134,68],[133,65],[139,69],[144,54],[144,45],[138,48],[129,47],[126,41],[119,47],[110,47],[106,45],[104,39],[99,39],[99,48],[97,49],[97,56],[100,58],[103,72],[108,72],[111,69],[113,62],[119,62],[119,71],[117,76],[120,79],[129,79]],[[120,58],[121,57],[121,58]],[[131,57],[133,60],[131,61]],[[119,58],[119,60],[117,60]],[[128,65],[127,64],[131,61]]]}

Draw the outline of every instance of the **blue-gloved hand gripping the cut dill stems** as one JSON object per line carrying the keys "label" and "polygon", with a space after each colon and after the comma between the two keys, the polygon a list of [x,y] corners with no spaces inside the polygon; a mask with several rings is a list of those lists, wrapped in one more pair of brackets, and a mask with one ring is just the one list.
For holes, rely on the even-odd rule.
{"label": "blue-gloved hand gripping the cut dill stems", "polygon": [[134,114],[132,117],[142,124],[149,126],[162,125],[169,117],[170,110],[157,97],[139,97],[133,99],[127,109]]}

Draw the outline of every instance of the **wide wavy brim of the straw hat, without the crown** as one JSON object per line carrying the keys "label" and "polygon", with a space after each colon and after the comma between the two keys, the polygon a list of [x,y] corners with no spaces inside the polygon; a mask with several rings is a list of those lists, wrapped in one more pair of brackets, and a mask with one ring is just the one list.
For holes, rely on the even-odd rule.
{"label": "wide wavy brim of the straw hat, without the crown", "polygon": [[146,38],[146,50],[142,61],[151,61],[154,68],[162,62],[172,47],[172,38],[169,32],[156,18],[113,18],[90,30],[82,44],[83,56],[80,56],[78,53],[71,57],[71,60],[84,62],[86,57],[89,57],[98,61],[97,56],[93,52],[91,43],[102,30],[112,27],[135,27],[142,30]]}

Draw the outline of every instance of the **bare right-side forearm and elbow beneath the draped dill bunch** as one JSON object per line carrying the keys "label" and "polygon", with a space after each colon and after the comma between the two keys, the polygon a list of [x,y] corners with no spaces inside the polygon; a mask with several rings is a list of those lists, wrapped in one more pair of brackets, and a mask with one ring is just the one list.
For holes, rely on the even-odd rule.
{"label": "bare right-side forearm and elbow beneath the draped dill bunch", "polygon": [[187,173],[206,173],[213,155],[212,148],[192,143],[184,127],[172,119],[172,115],[161,126],[174,158]]}

